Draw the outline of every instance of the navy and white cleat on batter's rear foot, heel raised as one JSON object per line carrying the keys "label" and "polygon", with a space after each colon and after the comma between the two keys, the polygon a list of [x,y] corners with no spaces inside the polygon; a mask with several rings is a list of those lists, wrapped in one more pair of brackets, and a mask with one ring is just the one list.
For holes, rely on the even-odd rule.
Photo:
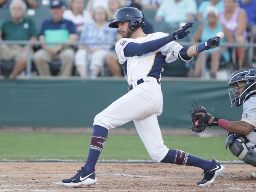
{"label": "navy and white cleat on batter's rear foot, heel raised", "polygon": [[222,166],[219,162],[216,162],[215,158],[212,158],[211,161],[211,169],[205,170],[203,172],[203,179],[200,182],[197,182],[197,186],[199,187],[207,187],[211,185],[215,179],[217,179],[222,173],[225,171],[225,167]]}

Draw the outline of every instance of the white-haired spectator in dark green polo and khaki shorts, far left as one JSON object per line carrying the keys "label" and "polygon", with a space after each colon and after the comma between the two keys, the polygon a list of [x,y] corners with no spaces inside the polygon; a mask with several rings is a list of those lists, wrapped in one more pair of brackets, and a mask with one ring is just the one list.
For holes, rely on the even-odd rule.
{"label": "white-haired spectator in dark green polo and khaki shorts, far left", "polygon": [[[13,0],[9,6],[11,19],[6,19],[0,27],[0,41],[36,41],[34,21],[24,18],[26,4],[22,0]],[[15,66],[10,75],[14,79],[24,69],[27,63],[27,46],[0,44],[0,60],[15,60]]]}

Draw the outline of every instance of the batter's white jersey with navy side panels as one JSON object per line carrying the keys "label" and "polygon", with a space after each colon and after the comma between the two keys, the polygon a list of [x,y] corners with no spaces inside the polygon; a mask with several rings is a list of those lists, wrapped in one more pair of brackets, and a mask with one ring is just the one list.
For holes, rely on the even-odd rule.
{"label": "batter's white jersey with navy side panels", "polygon": [[144,43],[166,36],[165,33],[156,32],[147,34],[145,37],[139,38],[122,38],[115,44],[119,63],[124,67],[127,76],[128,84],[132,84],[143,77],[154,77],[158,80],[161,78],[161,72],[164,66],[164,61],[173,62],[178,59],[178,52],[183,48],[179,43],[171,41],[160,49],[133,57],[124,56],[124,48],[130,42]]}

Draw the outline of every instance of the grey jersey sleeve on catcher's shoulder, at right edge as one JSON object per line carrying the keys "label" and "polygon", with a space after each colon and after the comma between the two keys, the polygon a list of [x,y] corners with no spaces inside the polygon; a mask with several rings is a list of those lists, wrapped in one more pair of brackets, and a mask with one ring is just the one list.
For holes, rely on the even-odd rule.
{"label": "grey jersey sleeve on catcher's shoulder, at right edge", "polygon": [[256,97],[251,97],[243,104],[241,121],[256,127]]}

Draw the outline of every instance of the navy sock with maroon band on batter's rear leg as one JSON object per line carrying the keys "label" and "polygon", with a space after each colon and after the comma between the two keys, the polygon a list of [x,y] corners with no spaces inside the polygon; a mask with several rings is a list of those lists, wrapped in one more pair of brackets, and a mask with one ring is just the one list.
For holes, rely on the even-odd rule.
{"label": "navy sock with maroon band on batter's rear leg", "polygon": [[161,162],[196,166],[202,168],[203,170],[211,169],[211,161],[192,156],[178,149],[169,149],[167,155]]}

